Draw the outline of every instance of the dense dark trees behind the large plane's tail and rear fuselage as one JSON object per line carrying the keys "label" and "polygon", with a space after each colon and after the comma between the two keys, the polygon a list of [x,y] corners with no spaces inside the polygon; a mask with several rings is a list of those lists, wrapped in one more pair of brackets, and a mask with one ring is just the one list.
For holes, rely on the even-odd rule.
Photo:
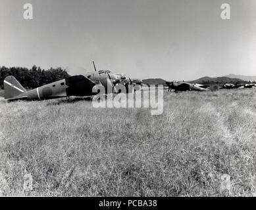
{"label": "dense dark trees behind the large plane's tail and rear fuselage", "polygon": [[3,80],[9,75],[13,75],[25,89],[34,89],[70,77],[67,70],[62,68],[42,70],[39,66],[33,66],[31,69],[0,66],[0,89],[3,89]]}

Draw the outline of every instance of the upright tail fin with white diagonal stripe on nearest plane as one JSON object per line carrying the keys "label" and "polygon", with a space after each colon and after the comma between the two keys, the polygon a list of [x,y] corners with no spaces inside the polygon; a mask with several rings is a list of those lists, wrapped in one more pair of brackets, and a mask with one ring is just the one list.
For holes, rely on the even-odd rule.
{"label": "upright tail fin with white diagonal stripe on nearest plane", "polygon": [[5,99],[7,100],[20,98],[19,95],[26,93],[26,89],[20,85],[14,76],[5,77],[3,83],[5,89]]}

